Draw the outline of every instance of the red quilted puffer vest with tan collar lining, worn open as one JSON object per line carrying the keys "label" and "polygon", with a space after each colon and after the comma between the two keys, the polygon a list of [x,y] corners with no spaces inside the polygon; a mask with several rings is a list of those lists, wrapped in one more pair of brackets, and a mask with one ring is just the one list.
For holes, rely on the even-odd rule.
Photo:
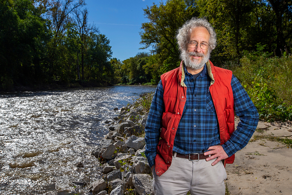
{"label": "red quilted puffer vest with tan collar lining, worn open", "polygon": [[[215,67],[211,61],[206,65],[206,71],[211,78],[209,90],[219,122],[220,144],[222,145],[230,139],[234,132],[232,71]],[[183,82],[184,79],[183,61],[179,68],[161,75],[165,112],[162,115],[161,139],[157,145],[155,157],[155,172],[158,176],[162,175],[171,165],[174,138],[186,102],[187,86]],[[233,162],[234,155],[225,159],[225,163]]]}

